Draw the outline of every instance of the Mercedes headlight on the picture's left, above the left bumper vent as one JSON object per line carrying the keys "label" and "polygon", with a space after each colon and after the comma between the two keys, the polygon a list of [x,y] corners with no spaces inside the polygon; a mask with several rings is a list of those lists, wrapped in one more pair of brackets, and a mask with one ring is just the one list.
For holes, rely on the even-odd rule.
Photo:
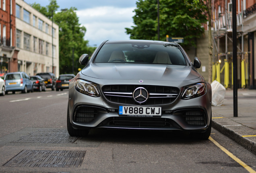
{"label": "Mercedes headlight on the picture's left, above the left bumper vent", "polygon": [[99,97],[99,91],[97,89],[97,85],[91,82],[87,82],[82,79],[76,79],[76,82],[74,84],[74,88],[79,93],[83,93],[85,95],[93,96],[93,97]]}

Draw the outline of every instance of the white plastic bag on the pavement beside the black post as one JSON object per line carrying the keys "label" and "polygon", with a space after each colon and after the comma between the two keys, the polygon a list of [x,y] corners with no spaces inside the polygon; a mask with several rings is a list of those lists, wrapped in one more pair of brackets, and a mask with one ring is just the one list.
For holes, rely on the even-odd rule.
{"label": "white plastic bag on the pavement beside the black post", "polygon": [[217,80],[214,80],[211,83],[211,86],[212,86],[212,105],[221,106],[224,101],[226,89]]}

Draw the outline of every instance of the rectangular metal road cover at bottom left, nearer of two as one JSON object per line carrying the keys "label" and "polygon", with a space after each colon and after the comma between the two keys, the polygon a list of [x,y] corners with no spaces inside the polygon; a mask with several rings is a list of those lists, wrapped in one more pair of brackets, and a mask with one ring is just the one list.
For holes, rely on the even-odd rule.
{"label": "rectangular metal road cover at bottom left, nearer of two", "polygon": [[23,150],[4,167],[80,167],[86,151]]}

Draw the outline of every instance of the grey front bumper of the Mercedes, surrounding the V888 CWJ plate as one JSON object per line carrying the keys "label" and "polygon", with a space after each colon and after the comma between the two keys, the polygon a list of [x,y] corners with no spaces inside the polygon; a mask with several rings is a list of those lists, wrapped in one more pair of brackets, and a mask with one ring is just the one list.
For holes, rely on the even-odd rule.
{"label": "grey front bumper of the Mercedes, surrounding the V888 CWJ plate", "polygon": [[[211,119],[211,92],[189,99],[179,99],[162,108],[161,117],[119,116],[117,103],[101,97],[90,97],[69,89],[69,116],[74,129],[119,128],[204,131]],[[155,105],[154,105],[155,106]]]}

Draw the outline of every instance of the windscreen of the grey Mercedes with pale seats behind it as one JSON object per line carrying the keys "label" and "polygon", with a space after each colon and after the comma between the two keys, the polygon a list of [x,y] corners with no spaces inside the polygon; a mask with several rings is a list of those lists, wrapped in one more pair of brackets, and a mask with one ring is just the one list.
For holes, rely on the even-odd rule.
{"label": "windscreen of the grey Mercedes with pale seats behind it", "polygon": [[186,65],[176,44],[106,43],[99,50],[95,63],[146,63]]}

